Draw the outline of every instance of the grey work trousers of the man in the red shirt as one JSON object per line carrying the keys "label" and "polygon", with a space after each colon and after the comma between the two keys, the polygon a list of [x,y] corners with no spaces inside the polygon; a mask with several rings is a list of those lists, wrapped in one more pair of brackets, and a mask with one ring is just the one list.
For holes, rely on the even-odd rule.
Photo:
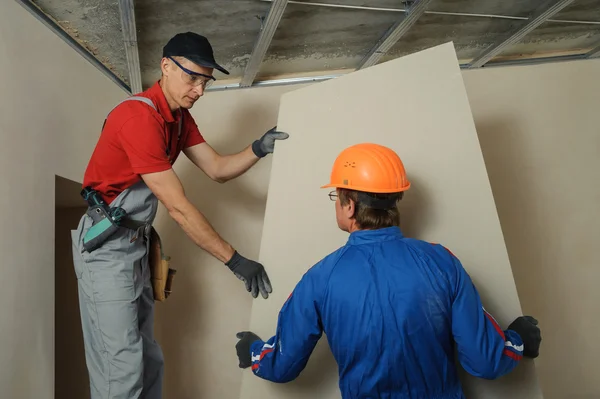
{"label": "grey work trousers of the man in the red shirt", "polygon": [[153,334],[147,229],[121,228],[87,253],[81,243],[91,225],[84,215],[71,232],[91,397],[160,399],[163,354]]}

